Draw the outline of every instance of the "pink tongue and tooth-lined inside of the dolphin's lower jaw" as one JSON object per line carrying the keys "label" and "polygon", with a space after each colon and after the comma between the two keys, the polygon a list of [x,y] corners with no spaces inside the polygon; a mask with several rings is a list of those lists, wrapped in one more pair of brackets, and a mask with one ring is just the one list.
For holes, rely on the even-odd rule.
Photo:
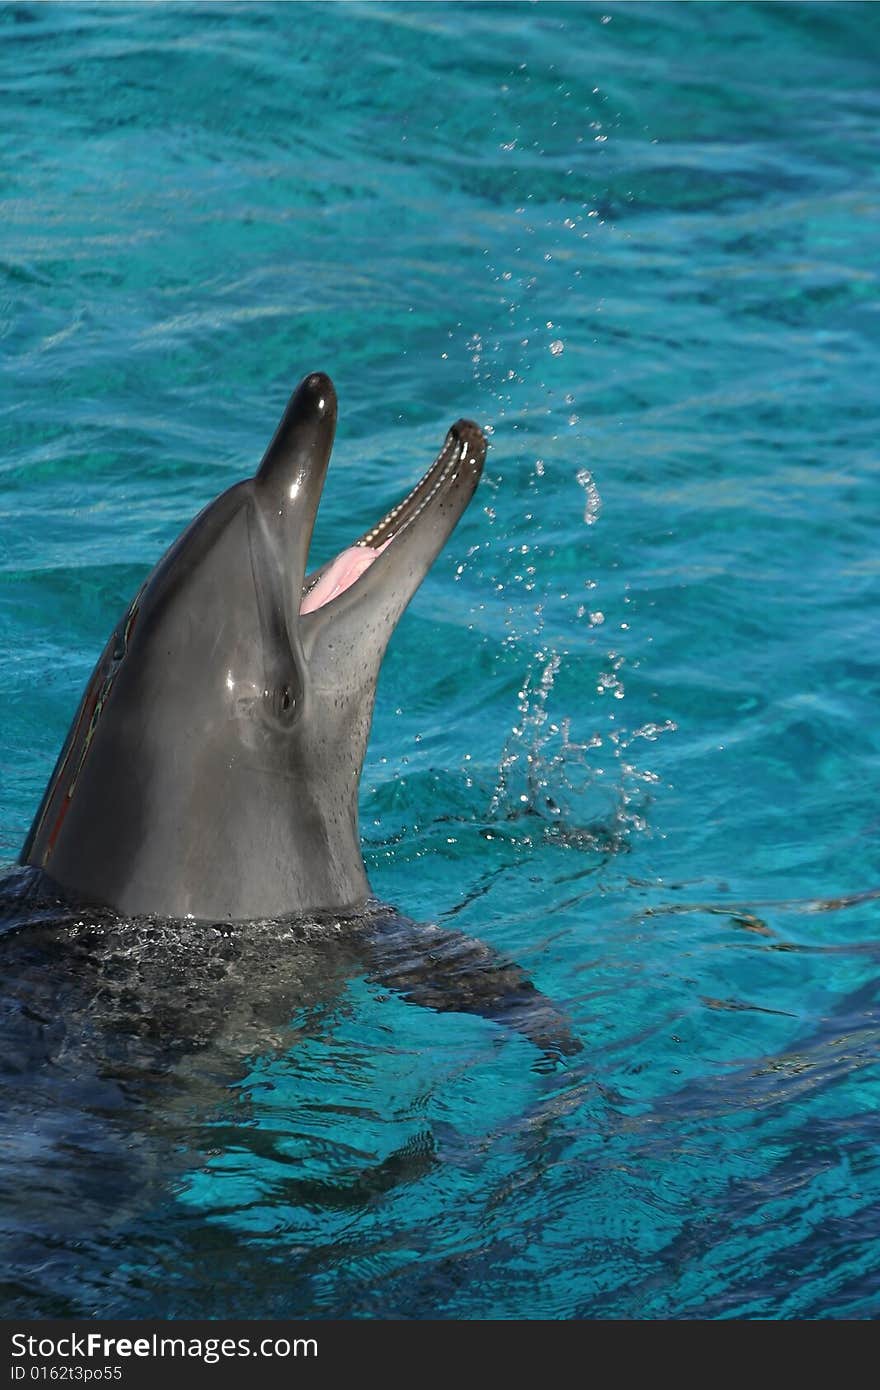
{"label": "pink tongue and tooth-lined inside of the dolphin's lower jaw", "polygon": [[435,512],[442,510],[457,491],[459,480],[463,480],[466,486],[462,489],[460,505],[448,525],[448,530],[452,530],[477,485],[485,452],[487,442],[480,427],[470,420],[459,420],[412,492],[345,550],[306,575],[300,614],[327,607],[341,594],[353,588],[381,555],[395,549],[405,532],[412,534],[418,523],[424,524]]}

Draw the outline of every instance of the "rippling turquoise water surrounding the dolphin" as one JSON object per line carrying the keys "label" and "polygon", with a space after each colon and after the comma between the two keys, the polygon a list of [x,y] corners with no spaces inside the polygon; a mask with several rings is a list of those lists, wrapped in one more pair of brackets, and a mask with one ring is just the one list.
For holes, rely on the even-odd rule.
{"label": "rippling turquoise water surrounding the dolphin", "polygon": [[584,1044],[548,1069],[314,938],[300,999],[253,1008],[239,962],[222,1037],[178,1038],[222,942],[85,922],[60,970],[10,935],[3,1307],[876,1316],[880,13],[0,36],[0,856],[303,373],[341,398],[321,556],[467,414],[492,449],[382,670],[367,866]]}

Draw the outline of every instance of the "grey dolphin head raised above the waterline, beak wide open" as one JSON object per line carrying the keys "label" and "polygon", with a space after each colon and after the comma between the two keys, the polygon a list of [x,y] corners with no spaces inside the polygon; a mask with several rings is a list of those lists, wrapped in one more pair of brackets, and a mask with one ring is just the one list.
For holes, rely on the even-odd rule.
{"label": "grey dolphin head raised above the waterline, beak wide open", "polygon": [[21,856],[68,892],[235,920],[368,894],[357,791],[382,655],[487,446],[459,421],[412,492],[307,573],[335,424],[332,382],[306,377],[254,477],[113,632]]}

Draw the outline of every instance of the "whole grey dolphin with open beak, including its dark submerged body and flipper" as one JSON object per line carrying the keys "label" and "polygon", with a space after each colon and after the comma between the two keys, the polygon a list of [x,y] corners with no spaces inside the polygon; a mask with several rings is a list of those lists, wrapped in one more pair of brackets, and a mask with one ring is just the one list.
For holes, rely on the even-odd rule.
{"label": "whole grey dolphin with open beak, including its dark submerged body and flipper", "polygon": [[[117,1312],[136,1311],[143,1213],[206,1162],[218,1125],[232,1147],[271,1148],[260,1126],[234,1123],[234,1087],[254,1059],[299,1074],[299,1044],[332,1041],[350,981],[368,1008],[396,995],[520,1034],[539,1054],[532,1072],[582,1049],[519,965],[370,895],[357,792],[382,655],[487,445],[459,421],[413,491],[307,573],[335,420],[332,384],[307,377],[254,477],[158,562],[0,883],[7,1315],[88,1314],[110,1284]],[[289,1172],[289,1198],[311,1213],[364,1205],[443,1159],[425,1131],[323,1172],[331,1137]]]}

